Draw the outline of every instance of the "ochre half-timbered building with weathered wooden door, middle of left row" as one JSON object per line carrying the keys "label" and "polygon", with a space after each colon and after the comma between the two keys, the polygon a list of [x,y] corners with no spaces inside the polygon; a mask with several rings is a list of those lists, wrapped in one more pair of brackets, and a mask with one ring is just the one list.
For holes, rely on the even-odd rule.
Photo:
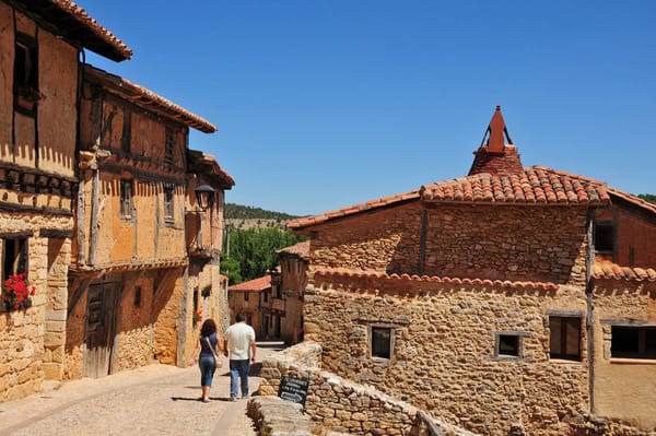
{"label": "ochre half-timbered building with weathered wooden door, middle of left row", "polygon": [[[216,128],[126,79],[89,64],[83,73],[66,376],[183,366],[194,350],[192,288],[201,275],[219,282],[218,268],[189,263],[189,128]],[[206,212],[220,216],[222,199]],[[215,240],[206,243],[215,260]]]}

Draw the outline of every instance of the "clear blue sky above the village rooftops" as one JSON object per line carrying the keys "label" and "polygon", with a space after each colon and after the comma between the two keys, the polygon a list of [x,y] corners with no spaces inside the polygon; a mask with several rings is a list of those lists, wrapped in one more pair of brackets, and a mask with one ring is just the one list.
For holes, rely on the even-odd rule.
{"label": "clear blue sky above the village rooftops", "polygon": [[465,176],[495,105],[525,166],[656,193],[656,1],[78,4],[134,52],[87,62],[219,127],[190,148],[229,202],[319,214]]}

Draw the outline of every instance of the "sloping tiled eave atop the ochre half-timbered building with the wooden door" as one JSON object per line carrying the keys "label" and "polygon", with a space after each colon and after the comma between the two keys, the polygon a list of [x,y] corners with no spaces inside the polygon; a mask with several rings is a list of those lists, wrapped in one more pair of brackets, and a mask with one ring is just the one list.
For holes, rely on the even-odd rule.
{"label": "sloping tiled eave atop the ochre half-timbered building with the wooden door", "polygon": [[155,111],[166,118],[172,118],[204,133],[213,133],[216,131],[216,126],[204,118],[190,113],[181,106],[178,106],[127,79],[110,74],[90,64],[84,66],[84,75],[85,79],[95,80],[105,86],[107,91],[116,93],[147,110]]}

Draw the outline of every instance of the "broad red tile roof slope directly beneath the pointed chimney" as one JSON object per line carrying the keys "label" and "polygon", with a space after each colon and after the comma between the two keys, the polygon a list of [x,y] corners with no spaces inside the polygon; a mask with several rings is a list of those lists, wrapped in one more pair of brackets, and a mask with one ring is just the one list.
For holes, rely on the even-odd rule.
{"label": "broad red tile roof slope directly beneath the pointed chimney", "polygon": [[520,174],[480,173],[424,185],[426,202],[607,204],[605,185],[551,168],[532,166]]}

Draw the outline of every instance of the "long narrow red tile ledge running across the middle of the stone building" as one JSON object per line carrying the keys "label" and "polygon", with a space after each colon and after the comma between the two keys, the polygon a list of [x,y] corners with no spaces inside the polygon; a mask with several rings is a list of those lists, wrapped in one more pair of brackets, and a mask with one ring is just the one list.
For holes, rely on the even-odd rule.
{"label": "long narrow red tile ledge running across the middle of the stone building", "polygon": [[455,285],[475,285],[475,286],[495,286],[495,287],[513,287],[513,288],[530,288],[530,290],[558,290],[559,285],[552,282],[523,282],[509,280],[489,280],[489,279],[470,279],[470,278],[449,278],[437,275],[417,275],[417,274],[388,274],[383,271],[363,271],[350,270],[343,268],[317,268],[314,270],[316,278],[347,278],[347,279],[383,279],[389,281],[412,281],[412,282],[434,282]]}

